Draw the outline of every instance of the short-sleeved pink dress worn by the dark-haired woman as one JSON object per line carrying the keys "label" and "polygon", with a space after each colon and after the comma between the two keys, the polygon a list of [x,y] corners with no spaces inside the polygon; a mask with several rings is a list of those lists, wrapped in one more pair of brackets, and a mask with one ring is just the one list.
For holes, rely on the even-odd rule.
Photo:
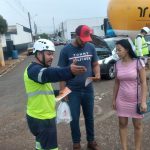
{"label": "short-sleeved pink dress worn by the dark-haired woman", "polygon": [[[138,61],[138,69],[144,67],[144,63]],[[117,78],[120,81],[116,98],[117,115],[120,117],[143,118],[136,113],[137,104],[137,60],[125,64],[119,60],[116,64]],[[139,89],[140,100],[140,89]]]}

